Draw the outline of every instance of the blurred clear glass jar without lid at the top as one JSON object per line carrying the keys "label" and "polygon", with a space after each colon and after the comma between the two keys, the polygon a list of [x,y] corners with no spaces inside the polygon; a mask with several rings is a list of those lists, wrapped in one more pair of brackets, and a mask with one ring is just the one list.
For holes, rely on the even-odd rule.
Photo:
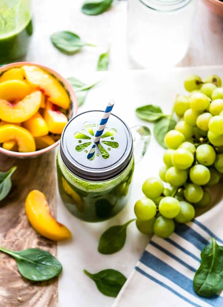
{"label": "blurred clear glass jar without lid at the top", "polygon": [[190,44],[195,0],[128,0],[127,49],[137,67],[171,67]]}

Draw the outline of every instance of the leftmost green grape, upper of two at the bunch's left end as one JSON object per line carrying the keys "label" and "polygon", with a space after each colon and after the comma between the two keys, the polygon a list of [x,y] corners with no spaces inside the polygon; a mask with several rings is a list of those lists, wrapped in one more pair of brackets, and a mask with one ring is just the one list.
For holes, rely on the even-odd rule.
{"label": "leftmost green grape, upper of two at the bunch's left end", "polygon": [[135,203],[134,212],[138,219],[147,221],[156,215],[156,205],[151,199],[143,197]]}

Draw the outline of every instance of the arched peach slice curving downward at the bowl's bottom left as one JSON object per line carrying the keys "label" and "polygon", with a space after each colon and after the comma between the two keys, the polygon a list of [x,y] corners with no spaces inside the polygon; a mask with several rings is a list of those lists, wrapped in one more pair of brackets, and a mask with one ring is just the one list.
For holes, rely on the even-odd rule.
{"label": "arched peach slice curving downward at the bowl's bottom left", "polygon": [[4,125],[0,127],[0,143],[15,140],[18,143],[18,151],[22,153],[36,150],[36,144],[32,134],[23,127],[16,125]]}

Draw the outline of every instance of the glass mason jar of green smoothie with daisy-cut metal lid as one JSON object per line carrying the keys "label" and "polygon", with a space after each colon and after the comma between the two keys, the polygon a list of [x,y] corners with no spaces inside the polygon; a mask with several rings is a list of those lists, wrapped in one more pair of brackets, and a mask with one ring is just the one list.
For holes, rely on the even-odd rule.
{"label": "glass mason jar of green smoothie with daisy-cut metal lid", "polygon": [[57,153],[61,199],[74,216],[87,222],[106,220],[123,209],[134,171],[131,131],[113,114],[89,158],[102,114],[88,111],[71,119],[61,135]]}

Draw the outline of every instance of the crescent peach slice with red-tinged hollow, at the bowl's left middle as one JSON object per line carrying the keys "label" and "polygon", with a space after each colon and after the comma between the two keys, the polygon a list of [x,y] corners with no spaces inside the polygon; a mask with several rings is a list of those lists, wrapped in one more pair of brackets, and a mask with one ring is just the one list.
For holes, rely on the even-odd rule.
{"label": "crescent peach slice with red-tinged hollow, at the bowl's left middle", "polygon": [[0,99],[0,119],[12,123],[24,122],[38,111],[40,103],[40,91],[25,96],[24,99],[17,103],[10,103],[7,100]]}

